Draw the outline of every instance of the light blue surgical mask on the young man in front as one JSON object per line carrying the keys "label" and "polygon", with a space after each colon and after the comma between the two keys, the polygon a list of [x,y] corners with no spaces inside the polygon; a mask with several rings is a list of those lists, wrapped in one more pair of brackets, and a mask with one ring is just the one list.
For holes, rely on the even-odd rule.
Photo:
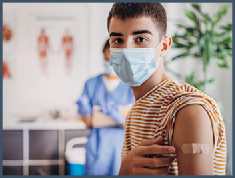
{"label": "light blue surgical mask on the young man in front", "polygon": [[110,65],[123,82],[140,86],[157,69],[161,59],[156,64],[154,51],[157,48],[110,48]]}

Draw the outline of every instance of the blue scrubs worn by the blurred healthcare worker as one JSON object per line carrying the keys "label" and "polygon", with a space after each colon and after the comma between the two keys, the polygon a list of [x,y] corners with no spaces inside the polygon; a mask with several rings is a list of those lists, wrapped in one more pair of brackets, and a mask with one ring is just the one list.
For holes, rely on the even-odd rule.
{"label": "blue scrubs worn by the blurred healthcare worker", "polygon": [[[122,124],[125,118],[118,106],[134,102],[135,98],[128,84],[121,81],[112,92],[108,92],[101,74],[87,80],[77,102],[78,113],[91,116],[93,106],[98,105],[103,113]],[[86,144],[85,175],[117,175],[121,165],[123,141],[122,127],[92,128]]]}

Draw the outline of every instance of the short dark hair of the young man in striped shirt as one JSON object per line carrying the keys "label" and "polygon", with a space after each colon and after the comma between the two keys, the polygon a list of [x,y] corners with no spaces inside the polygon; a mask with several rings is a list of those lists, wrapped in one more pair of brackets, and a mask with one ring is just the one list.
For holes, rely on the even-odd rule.
{"label": "short dark hair of the young man in striped shirt", "polygon": [[152,18],[156,28],[159,29],[159,40],[161,40],[167,28],[166,11],[161,3],[114,3],[107,18],[108,30],[113,17],[125,20],[142,16]]}

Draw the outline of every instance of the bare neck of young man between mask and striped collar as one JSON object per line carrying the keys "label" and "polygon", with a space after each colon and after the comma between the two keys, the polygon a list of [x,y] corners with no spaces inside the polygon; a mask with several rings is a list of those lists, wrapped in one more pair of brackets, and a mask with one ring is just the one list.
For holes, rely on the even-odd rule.
{"label": "bare neck of young man between mask and striped collar", "polygon": [[161,70],[157,69],[144,83],[137,87],[131,87],[137,101],[143,97],[147,92],[159,85],[169,77],[166,75],[165,69],[162,67]]}

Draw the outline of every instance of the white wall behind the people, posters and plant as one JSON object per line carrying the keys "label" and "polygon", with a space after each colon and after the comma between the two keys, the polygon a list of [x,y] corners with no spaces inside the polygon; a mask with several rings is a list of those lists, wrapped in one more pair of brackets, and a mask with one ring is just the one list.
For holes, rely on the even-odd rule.
{"label": "white wall behind the people, posters and plant", "polygon": [[[202,10],[209,14],[214,14],[225,3],[201,3]],[[27,112],[41,112],[50,108],[65,108],[74,103],[80,96],[84,82],[87,78],[99,74],[102,68],[102,47],[108,38],[106,20],[112,3],[3,3],[3,11],[16,12],[17,44],[15,58],[15,78],[14,80],[3,81],[3,110],[5,116],[20,115]],[[170,19],[185,19],[184,9],[191,8],[190,3],[163,3],[168,16],[167,35],[173,35],[176,30]],[[81,45],[87,46],[86,59],[81,60],[84,65],[83,71],[76,78],[66,78],[61,75],[56,81],[45,78],[34,87],[30,85],[32,71],[27,64],[30,60],[30,49],[26,44],[28,39],[28,13],[32,11],[61,11],[76,12],[85,9],[88,14],[83,17],[87,20],[83,29],[86,31],[87,39],[78,41]],[[232,8],[222,19],[222,23],[232,22]],[[85,33],[85,32],[84,32]],[[174,56],[177,51],[170,49],[165,60]],[[167,59],[168,58],[168,59]],[[84,62],[85,61],[85,62]],[[187,67],[186,67],[187,66]],[[193,67],[200,68],[193,60],[178,61],[171,64],[171,68],[176,71],[189,72]],[[194,68],[195,69],[195,68]],[[228,70],[220,69],[213,65],[210,75],[214,75],[217,80],[217,90],[213,95],[223,102],[225,110],[223,116],[232,119],[232,68]],[[232,127],[226,125],[228,153],[232,154]],[[231,174],[231,156],[228,158],[227,173]]]}

